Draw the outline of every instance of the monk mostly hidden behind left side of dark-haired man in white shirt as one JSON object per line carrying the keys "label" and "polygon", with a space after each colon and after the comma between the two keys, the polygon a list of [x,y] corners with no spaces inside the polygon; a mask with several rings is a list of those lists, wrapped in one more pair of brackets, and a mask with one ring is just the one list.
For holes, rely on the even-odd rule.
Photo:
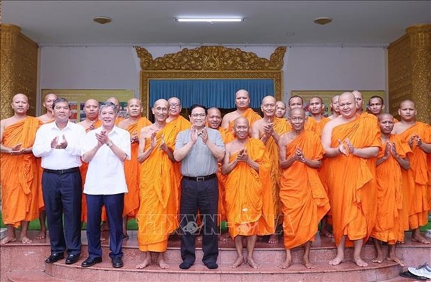
{"label": "monk mostly hidden behind left side of dark-haired man in white shirt", "polygon": [[[38,119],[42,124],[47,124],[49,122],[54,122],[54,112],[52,110],[52,104],[57,99],[57,95],[54,93],[46,94],[43,99],[43,107],[45,108],[44,115],[40,115]],[[44,239],[47,237],[47,225],[45,220],[47,219],[47,212],[44,208],[43,194],[42,194],[42,174],[43,168],[41,166],[42,158],[36,158],[36,165],[38,165],[38,201],[39,201],[39,222],[40,222],[40,232],[36,236],[36,239]]]}

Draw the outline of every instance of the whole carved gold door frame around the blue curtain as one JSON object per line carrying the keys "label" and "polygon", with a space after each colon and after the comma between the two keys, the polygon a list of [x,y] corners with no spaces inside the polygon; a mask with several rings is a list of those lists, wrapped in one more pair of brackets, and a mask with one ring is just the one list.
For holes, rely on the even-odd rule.
{"label": "whole carved gold door frame around the blue curtain", "polygon": [[[135,47],[140,58],[140,98],[144,115],[149,110],[151,79],[238,79],[270,78],[275,84],[275,98],[282,99],[282,67],[286,47],[277,47],[270,60],[239,48],[202,46],[183,49],[153,60],[147,49]],[[270,93],[268,93],[270,94]]]}

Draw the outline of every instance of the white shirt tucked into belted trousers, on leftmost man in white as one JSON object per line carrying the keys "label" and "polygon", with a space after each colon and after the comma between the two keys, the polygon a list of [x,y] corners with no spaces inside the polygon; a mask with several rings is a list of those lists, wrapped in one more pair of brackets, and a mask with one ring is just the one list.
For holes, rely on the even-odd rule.
{"label": "white shirt tucked into belted trousers, on leftmost man in white", "polygon": [[[67,141],[65,149],[51,148],[51,142],[58,138],[57,144]],[[86,137],[83,126],[67,122],[65,128],[58,128],[56,122],[40,126],[33,144],[33,154],[42,157],[42,167],[46,169],[69,169],[81,166],[81,142]]]}

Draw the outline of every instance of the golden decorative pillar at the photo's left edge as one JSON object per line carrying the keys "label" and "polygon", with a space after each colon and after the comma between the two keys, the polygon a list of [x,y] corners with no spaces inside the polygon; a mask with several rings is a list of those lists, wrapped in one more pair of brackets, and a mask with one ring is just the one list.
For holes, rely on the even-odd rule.
{"label": "golden decorative pillar at the photo's left edge", "polygon": [[17,93],[29,97],[28,114],[35,115],[38,86],[38,44],[14,24],[0,24],[0,110],[1,119],[13,115],[10,107]]}

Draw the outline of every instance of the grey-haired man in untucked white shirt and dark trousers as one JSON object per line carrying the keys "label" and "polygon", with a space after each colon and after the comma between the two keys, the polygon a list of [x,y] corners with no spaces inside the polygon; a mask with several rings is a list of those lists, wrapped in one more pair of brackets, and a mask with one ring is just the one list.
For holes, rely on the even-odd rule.
{"label": "grey-haired man in untucked white shirt and dark trousers", "polygon": [[127,193],[124,160],[130,160],[130,133],[115,126],[118,109],[111,102],[100,106],[102,125],[87,133],[82,160],[88,163],[84,194],[87,198],[88,258],[81,264],[101,263],[101,207],[106,208],[109,223],[109,257],[113,267],[122,267],[122,212]]}

